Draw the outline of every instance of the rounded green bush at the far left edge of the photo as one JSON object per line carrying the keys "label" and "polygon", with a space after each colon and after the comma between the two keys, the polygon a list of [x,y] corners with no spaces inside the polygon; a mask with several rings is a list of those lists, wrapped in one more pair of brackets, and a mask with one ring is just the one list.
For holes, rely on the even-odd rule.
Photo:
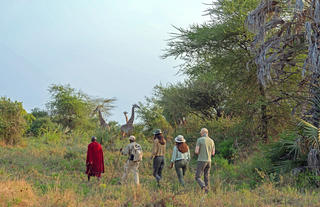
{"label": "rounded green bush at the far left edge of the photo", "polygon": [[25,116],[27,112],[22,103],[0,98],[0,140],[6,144],[17,144],[27,127]]}

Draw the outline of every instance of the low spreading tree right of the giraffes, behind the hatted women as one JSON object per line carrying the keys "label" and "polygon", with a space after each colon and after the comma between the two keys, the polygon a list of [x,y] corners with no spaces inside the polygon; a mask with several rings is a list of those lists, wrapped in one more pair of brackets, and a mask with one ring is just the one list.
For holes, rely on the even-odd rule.
{"label": "low spreading tree right of the giraffes, behind the hatted women", "polygon": [[184,122],[188,114],[207,120],[221,117],[227,97],[222,83],[204,77],[155,89],[158,103],[173,125]]}

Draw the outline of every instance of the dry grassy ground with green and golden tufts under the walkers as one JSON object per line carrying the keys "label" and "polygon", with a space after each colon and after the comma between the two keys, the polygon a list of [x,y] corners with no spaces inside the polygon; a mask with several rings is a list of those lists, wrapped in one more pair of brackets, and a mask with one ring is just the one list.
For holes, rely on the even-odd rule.
{"label": "dry grassy ground with green and golden tufts under the walkers", "polygon": [[[104,150],[106,172],[101,181],[88,182],[84,174],[88,142],[79,140],[84,139],[34,138],[18,147],[0,146],[0,206],[320,206],[315,191],[270,182],[239,188],[221,176],[221,169],[212,170],[212,188],[205,195],[194,181],[194,161],[185,177],[186,187],[178,184],[175,171],[166,165],[158,188],[149,160],[151,145],[146,142],[140,187],[117,185],[126,157],[111,149]],[[117,140],[112,149],[125,144],[127,140]],[[167,160],[169,154],[170,150]]]}

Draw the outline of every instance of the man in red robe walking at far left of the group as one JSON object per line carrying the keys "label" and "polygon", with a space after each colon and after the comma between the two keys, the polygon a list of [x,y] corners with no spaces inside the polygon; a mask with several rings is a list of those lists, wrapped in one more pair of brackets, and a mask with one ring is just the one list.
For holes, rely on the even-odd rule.
{"label": "man in red robe walking at far left of the group", "polygon": [[90,181],[90,176],[97,176],[100,179],[101,173],[104,173],[104,161],[102,147],[96,137],[92,137],[88,145],[86,165],[88,181]]}

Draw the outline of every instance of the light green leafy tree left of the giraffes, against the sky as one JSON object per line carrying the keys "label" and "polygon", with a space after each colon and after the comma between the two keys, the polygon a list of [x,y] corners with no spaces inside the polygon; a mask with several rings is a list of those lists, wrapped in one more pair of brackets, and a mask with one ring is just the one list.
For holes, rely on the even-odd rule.
{"label": "light green leafy tree left of the giraffes, against the sky", "polygon": [[93,103],[88,95],[71,88],[70,85],[52,85],[49,88],[51,101],[48,103],[53,120],[66,130],[91,129]]}

